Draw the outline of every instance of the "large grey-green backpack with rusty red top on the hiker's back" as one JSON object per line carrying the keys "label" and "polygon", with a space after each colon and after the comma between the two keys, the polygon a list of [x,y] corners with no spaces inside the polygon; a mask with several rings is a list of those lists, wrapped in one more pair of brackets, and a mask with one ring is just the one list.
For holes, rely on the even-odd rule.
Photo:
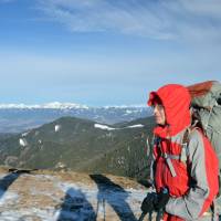
{"label": "large grey-green backpack with rusty red top on the hiker's back", "polygon": [[199,120],[219,159],[221,173],[221,83],[208,81],[187,87],[193,117]]}

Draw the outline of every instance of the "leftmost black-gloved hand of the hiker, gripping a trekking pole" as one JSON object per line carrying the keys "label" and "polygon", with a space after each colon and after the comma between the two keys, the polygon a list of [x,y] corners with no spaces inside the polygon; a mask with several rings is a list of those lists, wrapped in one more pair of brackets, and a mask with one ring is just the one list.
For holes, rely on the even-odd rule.
{"label": "leftmost black-gloved hand of the hiker, gripping a trekking pole", "polygon": [[155,204],[157,202],[157,193],[156,192],[149,192],[147,193],[147,197],[143,200],[141,203],[141,211],[144,213],[148,213],[155,210]]}

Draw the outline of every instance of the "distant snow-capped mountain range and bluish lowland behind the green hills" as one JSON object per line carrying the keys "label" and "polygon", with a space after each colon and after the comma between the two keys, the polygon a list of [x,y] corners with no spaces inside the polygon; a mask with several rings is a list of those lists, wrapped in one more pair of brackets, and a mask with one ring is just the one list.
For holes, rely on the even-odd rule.
{"label": "distant snow-capped mountain range and bluish lowland behind the green hills", "polygon": [[90,107],[75,103],[0,104],[0,133],[20,133],[63,116],[116,124],[151,115],[145,105]]}

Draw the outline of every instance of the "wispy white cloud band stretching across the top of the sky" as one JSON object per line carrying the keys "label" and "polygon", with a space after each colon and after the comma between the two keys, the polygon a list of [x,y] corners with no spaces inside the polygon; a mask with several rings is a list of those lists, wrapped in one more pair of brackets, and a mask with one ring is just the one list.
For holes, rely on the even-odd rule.
{"label": "wispy white cloud band stretching across the top of the sky", "polygon": [[152,39],[221,35],[220,0],[40,0],[41,10],[73,32],[115,31]]}

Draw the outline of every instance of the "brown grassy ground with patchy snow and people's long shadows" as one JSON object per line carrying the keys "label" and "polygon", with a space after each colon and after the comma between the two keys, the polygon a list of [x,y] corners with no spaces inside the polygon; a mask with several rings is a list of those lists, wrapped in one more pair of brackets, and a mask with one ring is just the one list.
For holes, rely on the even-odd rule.
{"label": "brown grassy ground with patchy snow and people's long shadows", "polygon": [[0,221],[133,221],[146,192],[114,176],[0,170]]}

